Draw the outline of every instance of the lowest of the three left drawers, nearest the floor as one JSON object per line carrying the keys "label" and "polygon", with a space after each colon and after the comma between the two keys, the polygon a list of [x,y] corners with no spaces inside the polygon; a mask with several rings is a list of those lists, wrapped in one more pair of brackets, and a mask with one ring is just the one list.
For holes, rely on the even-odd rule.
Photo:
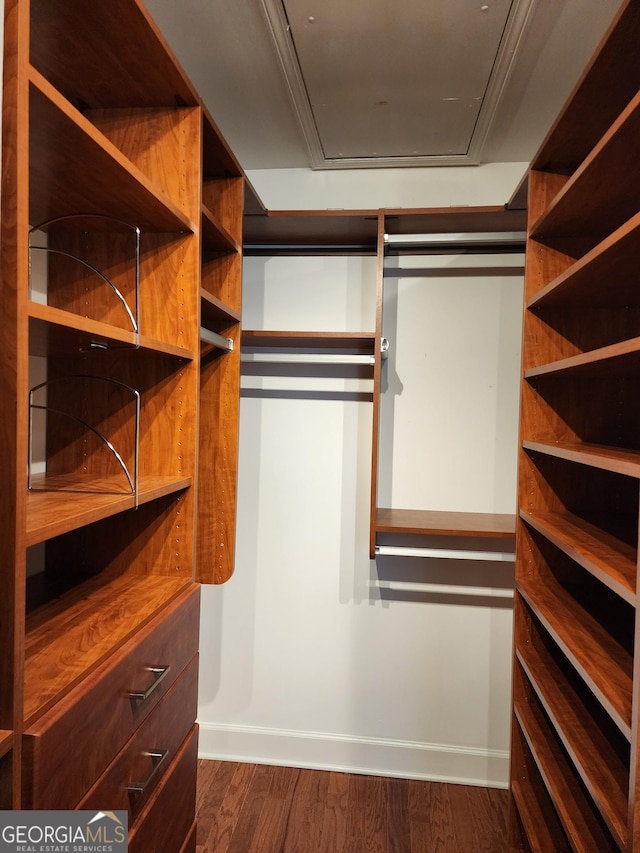
{"label": "lowest of the three left drawers, nearest the floor", "polygon": [[197,772],[198,727],[194,726],[129,829],[129,853],[180,853],[188,845],[196,813]]}

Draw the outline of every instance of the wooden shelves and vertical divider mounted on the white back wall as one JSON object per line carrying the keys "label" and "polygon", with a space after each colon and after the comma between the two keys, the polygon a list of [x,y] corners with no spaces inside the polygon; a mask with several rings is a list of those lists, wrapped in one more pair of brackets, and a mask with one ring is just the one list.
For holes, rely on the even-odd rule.
{"label": "wooden shelves and vertical divider mounted on the white back wall", "polygon": [[245,216],[246,254],[375,254],[377,256],[375,328],[367,333],[244,330],[246,352],[288,351],[371,354],[373,420],[371,461],[370,557],[378,534],[450,535],[509,540],[515,536],[515,516],[482,513],[442,513],[378,506],[378,455],[384,262],[390,248],[385,234],[447,235],[450,233],[524,231],[526,211],[509,207],[416,208],[350,211],[273,211]]}

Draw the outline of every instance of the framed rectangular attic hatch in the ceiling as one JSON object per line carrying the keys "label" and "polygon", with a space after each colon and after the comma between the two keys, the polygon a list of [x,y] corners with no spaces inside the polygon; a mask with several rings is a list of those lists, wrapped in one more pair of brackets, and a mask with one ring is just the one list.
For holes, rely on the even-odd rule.
{"label": "framed rectangular attic hatch in the ceiling", "polygon": [[477,165],[535,0],[262,0],[315,169]]}

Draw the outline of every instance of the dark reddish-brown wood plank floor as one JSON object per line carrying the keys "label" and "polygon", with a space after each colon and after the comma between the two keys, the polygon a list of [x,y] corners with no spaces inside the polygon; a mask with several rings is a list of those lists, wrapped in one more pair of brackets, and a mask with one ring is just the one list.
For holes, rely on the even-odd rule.
{"label": "dark reddish-brown wood plank floor", "polygon": [[200,761],[197,853],[506,853],[508,793]]}

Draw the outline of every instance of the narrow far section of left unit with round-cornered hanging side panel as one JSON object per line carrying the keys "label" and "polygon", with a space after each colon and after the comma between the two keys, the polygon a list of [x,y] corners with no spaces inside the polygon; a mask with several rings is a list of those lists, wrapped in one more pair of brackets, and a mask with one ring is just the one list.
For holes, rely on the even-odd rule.
{"label": "narrow far section of left unit with round-cornered hanging side panel", "polygon": [[234,567],[240,415],[244,179],[204,111],[202,147],[201,325],[230,349],[200,349],[198,543],[196,577],[224,583]]}

